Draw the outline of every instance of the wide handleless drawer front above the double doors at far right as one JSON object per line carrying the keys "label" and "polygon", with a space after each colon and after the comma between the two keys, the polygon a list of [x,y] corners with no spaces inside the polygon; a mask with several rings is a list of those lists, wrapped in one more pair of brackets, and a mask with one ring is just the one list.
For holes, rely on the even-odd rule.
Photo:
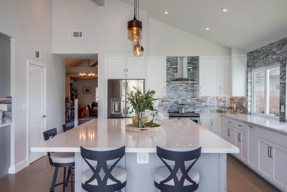
{"label": "wide handleless drawer front above the double doors at far right", "polygon": [[276,133],[264,128],[258,127],[258,137],[271,141],[283,147],[287,147],[287,135]]}

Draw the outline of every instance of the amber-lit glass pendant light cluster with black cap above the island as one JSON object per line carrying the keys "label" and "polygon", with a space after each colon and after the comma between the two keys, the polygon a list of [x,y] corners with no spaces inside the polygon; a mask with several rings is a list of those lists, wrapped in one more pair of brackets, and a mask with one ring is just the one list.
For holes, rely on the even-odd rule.
{"label": "amber-lit glass pendant light cluster with black cap above the island", "polygon": [[[137,3],[137,8],[136,8]],[[137,16],[137,17],[136,17]],[[139,21],[139,0],[135,0],[135,10],[133,20],[127,22],[127,38],[132,41],[132,51],[135,57],[141,57],[144,54],[144,48],[141,46],[142,22]]]}

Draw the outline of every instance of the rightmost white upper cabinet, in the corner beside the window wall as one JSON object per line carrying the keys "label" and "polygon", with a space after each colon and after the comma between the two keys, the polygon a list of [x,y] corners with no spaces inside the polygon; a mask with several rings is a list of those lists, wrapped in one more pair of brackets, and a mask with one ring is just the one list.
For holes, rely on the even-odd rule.
{"label": "rightmost white upper cabinet, in the corner beside the window wall", "polygon": [[229,96],[246,96],[247,55],[229,58]]}

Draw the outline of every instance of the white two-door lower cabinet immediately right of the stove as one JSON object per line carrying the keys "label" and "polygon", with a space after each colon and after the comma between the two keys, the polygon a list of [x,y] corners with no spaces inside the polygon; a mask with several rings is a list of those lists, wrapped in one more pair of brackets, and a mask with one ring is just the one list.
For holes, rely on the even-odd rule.
{"label": "white two-door lower cabinet immediately right of the stove", "polygon": [[201,116],[199,124],[221,137],[221,116]]}

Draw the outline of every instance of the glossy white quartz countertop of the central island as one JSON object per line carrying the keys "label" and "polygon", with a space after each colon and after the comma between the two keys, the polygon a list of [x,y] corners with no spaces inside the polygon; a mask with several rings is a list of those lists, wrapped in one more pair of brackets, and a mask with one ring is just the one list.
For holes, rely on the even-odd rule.
{"label": "glossy white quartz countertop of the central island", "polygon": [[156,153],[156,146],[188,151],[201,146],[202,153],[238,153],[239,149],[191,120],[167,119],[159,122],[161,130],[137,133],[125,130],[131,119],[93,119],[65,133],[44,141],[31,151],[80,152],[80,146],[111,150],[126,146],[127,153]]}

